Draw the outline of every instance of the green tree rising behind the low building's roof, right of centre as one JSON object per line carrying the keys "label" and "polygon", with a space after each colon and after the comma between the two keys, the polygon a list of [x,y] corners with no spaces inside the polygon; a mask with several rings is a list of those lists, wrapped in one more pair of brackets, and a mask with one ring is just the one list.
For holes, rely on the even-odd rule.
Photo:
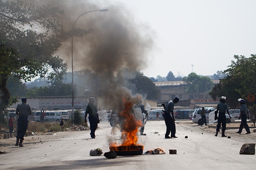
{"label": "green tree rising behind the low building's roof, right of centre", "polygon": [[186,93],[207,92],[211,88],[211,79],[207,76],[198,76],[195,72],[188,74],[187,77],[183,78],[183,81],[188,84]]}

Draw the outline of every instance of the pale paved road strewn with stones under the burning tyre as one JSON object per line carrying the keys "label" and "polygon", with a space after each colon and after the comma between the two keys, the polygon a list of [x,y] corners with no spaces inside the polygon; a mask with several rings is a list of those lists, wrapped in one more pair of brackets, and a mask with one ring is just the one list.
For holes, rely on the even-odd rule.
{"label": "pale paved road strewn with stones under the burning tyre", "polygon": [[[107,159],[90,156],[91,149],[101,148],[108,152],[110,141],[120,139],[120,131],[113,130],[108,122],[101,122],[96,130],[96,139],[90,139],[90,131],[58,132],[55,135],[26,137],[24,147],[14,147],[1,140],[0,169],[111,169],[111,170],[176,170],[255,169],[256,155],[240,155],[243,143],[255,143],[256,133],[239,135],[236,129],[227,130],[230,139],[215,137],[214,129],[200,127],[190,122],[176,124],[176,139],[164,139],[164,121],[148,121],[146,136],[139,136],[144,152],[160,147],[166,154],[118,156]],[[202,134],[203,133],[203,134]],[[245,133],[245,132],[244,132]],[[188,136],[185,139],[185,136]],[[176,149],[177,154],[169,154]]]}

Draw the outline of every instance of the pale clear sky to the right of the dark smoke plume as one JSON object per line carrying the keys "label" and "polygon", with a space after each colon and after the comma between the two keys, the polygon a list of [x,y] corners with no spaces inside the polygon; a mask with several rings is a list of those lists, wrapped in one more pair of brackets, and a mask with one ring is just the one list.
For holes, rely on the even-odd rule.
{"label": "pale clear sky to the right of the dark smoke plume", "polygon": [[[156,33],[146,76],[187,76],[225,70],[234,55],[255,54],[254,0],[111,0]],[[110,11],[109,11],[110,12]]]}

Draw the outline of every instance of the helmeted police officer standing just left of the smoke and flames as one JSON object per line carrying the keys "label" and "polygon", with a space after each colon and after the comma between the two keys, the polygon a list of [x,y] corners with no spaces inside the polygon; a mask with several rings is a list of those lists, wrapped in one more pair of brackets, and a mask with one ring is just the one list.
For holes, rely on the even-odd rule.
{"label": "helmeted police officer standing just left of the smoke and flames", "polygon": [[99,121],[99,115],[98,115],[98,110],[97,110],[97,106],[94,104],[94,98],[90,98],[88,103],[88,106],[86,107],[86,111],[85,111],[85,118],[84,118],[84,122],[87,123],[87,115],[89,114],[89,122],[90,122],[90,129],[91,129],[91,138],[95,138],[95,131],[98,127],[98,123],[100,123]]}

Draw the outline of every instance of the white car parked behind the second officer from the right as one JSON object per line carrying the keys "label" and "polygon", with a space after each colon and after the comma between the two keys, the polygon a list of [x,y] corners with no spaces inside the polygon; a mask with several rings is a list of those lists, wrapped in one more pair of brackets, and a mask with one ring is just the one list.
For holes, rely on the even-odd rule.
{"label": "white car parked behind the second officer from the right", "polygon": [[[216,109],[213,107],[204,107],[206,110],[206,123],[209,123],[209,113],[214,112]],[[192,115],[192,121],[194,123],[198,123],[198,125],[201,125],[201,111],[202,109],[196,109]],[[231,119],[229,119],[228,113],[226,113],[226,123],[235,122],[235,119],[232,115],[230,115]]]}

